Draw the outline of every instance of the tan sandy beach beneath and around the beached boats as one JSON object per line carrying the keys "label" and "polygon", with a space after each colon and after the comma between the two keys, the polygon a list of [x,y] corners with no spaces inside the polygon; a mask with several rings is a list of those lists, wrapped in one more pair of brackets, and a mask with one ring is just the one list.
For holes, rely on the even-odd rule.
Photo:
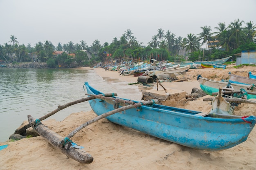
{"label": "tan sandy beach beneath and around the beached boats", "polygon": [[[103,68],[94,69],[101,77],[120,79],[128,83],[136,83],[133,75],[121,76],[117,71],[105,71]],[[166,89],[186,91],[191,94],[193,87],[200,88],[197,75],[210,79],[227,79],[228,72],[247,77],[247,73],[255,73],[255,67],[244,66],[234,68],[228,66],[225,70],[214,68],[189,69],[186,73],[188,81],[162,82]],[[130,85],[140,90],[143,86]],[[151,88],[156,88],[154,83]],[[163,91],[159,87],[159,91]],[[200,97],[188,101],[182,108],[209,112],[211,105]],[[240,104],[234,110],[234,115],[256,115],[256,105]],[[96,117],[89,112],[73,113],[63,121],[46,119],[42,121],[51,130],[62,137],[72,130]],[[81,164],[68,159],[59,150],[54,149],[42,137],[25,138],[19,141],[4,142],[8,147],[0,150],[0,170],[255,170],[256,169],[256,129],[252,130],[247,141],[233,148],[209,152],[195,150],[173,144],[162,139],[151,137],[144,133],[110,123],[107,119],[97,121],[79,131],[72,141],[83,146],[84,150],[94,157],[89,164]]]}

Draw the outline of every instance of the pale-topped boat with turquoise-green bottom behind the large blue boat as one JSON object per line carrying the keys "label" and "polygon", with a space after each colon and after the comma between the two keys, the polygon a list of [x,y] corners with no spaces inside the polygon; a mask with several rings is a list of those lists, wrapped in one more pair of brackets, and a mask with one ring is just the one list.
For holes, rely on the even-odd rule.
{"label": "pale-topped boat with turquoise-green bottom behind the large blue boat", "polygon": [[200,88],[207,95],[214,96],[212,93],[218,93],[220,87],[231,86],[230,90],[233,90],[233,91],[240,91],[241,89],[244,89],[248,93],[247,99],[256,99],[256,87],[252,86],[252,88],[249,88],[251,86],[249,84],[238,84],[238,83],[217,81],[213,79],[204,78],[201,75],[198,75],[198,82],[200,83]]}

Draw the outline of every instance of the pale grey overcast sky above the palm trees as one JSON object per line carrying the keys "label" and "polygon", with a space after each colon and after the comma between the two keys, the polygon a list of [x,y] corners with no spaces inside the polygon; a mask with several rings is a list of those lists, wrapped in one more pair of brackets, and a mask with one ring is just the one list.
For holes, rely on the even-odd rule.
{"label": "pale grey overcast sky above the palm trees", "polygon": [[[0,0],[0,44],[94,40],[109,44],[130,29],[147,46],[157,30],[182,38],[237,19],[256,24],[256,0]],[[243,24],[245,26],[245,24]]]}

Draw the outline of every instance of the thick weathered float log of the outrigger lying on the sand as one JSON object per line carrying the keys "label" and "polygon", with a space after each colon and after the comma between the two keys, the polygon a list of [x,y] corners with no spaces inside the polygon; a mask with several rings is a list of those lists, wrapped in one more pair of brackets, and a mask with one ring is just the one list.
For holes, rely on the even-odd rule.
{"label": "thick weathered float log of the outrigger lying on the sand", "polygon": [[64,155],[80,163],[92,163],[93,157],[82,149],[72,147],[72,141],[67,141],[63,147],[59,147],[59,141],[61,141],[63,137],[47,128],[45,125],[40,123],[40,121],[39,123],[35,123],[35,119],[31,115],[28,115],[27,118],[30,126],[54,148],[61,150]]}

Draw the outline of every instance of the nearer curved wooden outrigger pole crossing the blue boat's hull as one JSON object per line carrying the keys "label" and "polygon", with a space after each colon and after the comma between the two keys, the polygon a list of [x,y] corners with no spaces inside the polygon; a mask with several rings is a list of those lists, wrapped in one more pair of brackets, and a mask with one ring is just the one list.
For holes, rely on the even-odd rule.
{"label": "nearer curved wooden outrigger pole crossing the blue boat's hull", "polygon": [[[130,108],[137,108],[137,107],[141,107],[143,105],[150,105],[150,104],[154,104],[154,103],[157,103],[158,100],[157,99],[153,99],[153,100],[148,100],[148,101],[145,101],[145,102],[137,102],[135,104],[130,104],[130,105],[127,105],[127,106],[123,106],[123,107],[120,107],[120,108],[117,108],[115,110],[111,110],[107,113],[104,113],[102,115],[99,115],[97,117],[95,117],[94,119],[91,119],[90,121],[87,121],[85,124],[82,124],[81,126],[79,126],[78,128],[76,128],[75,130],[73,130],[69,135],[67,135],[67,138],[70,139],[72,138],[77,132],[79,132],[79,130],[82,130],[83,128],[85,128],[86,126],[100,120],[100,119],[103,119],[105,117],[108,117],[110,115],[113,115],[115,113],[118,113],[118,112],[121,112],[121,111],[124,111],[124,110],[128,110]],[[58,144],[59,146],[62,146],[64,144],[64,139],[62,139]]]}

